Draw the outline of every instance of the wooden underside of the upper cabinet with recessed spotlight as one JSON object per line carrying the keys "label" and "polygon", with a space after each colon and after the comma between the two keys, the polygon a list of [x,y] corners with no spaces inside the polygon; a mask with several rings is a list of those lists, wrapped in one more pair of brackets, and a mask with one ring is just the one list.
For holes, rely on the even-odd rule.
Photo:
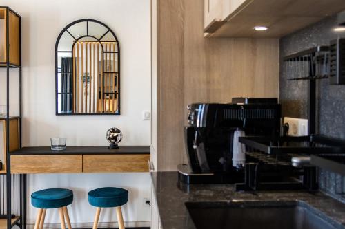
{"label": "wooden underside of the upper cabinet with recessed spotlight", "polygon": [[[254,0],[208,37],[279,38],[345,9],[344,0]],[[268,27],[255,31],[257,25]]]}

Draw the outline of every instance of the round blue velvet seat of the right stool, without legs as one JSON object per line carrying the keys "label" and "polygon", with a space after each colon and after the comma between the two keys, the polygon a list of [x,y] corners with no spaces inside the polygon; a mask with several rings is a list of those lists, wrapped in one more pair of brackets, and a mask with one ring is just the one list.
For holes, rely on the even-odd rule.
{"label": "round blue velvet seat of the right stool, without legs", "polygon": [[97,188],[88,193],[88,202],[99,208],[114,208],[126,204],[128,190],[124,188]]}

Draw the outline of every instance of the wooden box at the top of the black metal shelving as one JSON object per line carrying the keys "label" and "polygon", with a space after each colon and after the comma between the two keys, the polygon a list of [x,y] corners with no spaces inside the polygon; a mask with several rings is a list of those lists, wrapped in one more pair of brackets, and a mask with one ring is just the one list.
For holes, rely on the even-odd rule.
{"label": "wooden box at the top of the black metal shelving", "polygon": [[[8,7],[0,7],[0,66],[20,65],[20,17]],[[8,42],[7,42],[8,41]]]}

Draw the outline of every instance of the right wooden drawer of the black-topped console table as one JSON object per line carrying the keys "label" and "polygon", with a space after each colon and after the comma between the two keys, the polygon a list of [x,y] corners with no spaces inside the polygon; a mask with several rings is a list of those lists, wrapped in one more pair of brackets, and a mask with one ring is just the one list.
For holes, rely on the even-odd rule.
{"label": "right wooden drawer of the black-topped console table", "polygon": [[148,172],[149,154],[83,155],[83,173]]}

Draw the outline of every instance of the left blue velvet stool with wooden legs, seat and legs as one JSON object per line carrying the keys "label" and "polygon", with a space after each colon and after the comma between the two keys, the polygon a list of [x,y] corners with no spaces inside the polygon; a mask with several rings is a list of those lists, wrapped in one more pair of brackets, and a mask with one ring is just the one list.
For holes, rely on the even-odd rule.
{"label": "left blue velvet stool with wooden legs, seat and legs", "polygon": [[66,217],[68,228],[72,229],[70,225],[70,217],[67,210],[67,206],[72,204],[72,201],[73,192],[69,189],[49,188],[32,193],[31,204],[35,208],[39,208],[36,223],[34,224],[34,229],[43,228],[44,218],[46,217],[46,210],[48,208],[59,208],[61,228],[66,229]]}

